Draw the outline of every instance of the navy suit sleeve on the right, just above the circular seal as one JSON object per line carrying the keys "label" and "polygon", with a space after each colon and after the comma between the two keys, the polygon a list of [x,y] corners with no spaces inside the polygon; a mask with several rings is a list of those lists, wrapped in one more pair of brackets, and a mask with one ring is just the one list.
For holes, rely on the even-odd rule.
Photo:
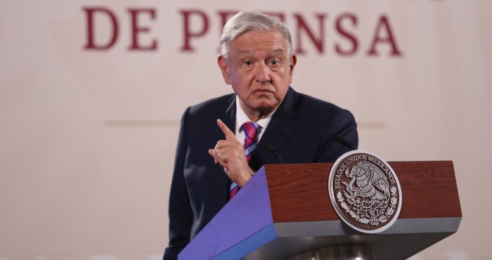
{"label": "navy suit sleeve on the right, just above the circular seal", "polygon": [[338,110],[330,121],[316,162],[335,162],[345,152],[358,148],[356,119],[349,110]]}

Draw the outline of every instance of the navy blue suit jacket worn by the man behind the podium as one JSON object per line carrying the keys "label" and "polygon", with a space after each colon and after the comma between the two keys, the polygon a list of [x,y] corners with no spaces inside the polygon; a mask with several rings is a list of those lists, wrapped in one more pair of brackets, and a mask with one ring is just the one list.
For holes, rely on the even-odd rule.
{"label": "navy blue suit jacket worn by the man behind the podium", "polygon": [[[235,94],[230,94],[188,108],[181,119],[164,260],[177,259],[227,203],[229,178],[223,167],[214,164],[208,150],[225,138],[216,119],[235,131],[235,110]],[[275,155],[261,148],[263,143],[277,148],[285,163],[335,162],[351,150],[335,141],[336,136],[357,148],[357,126],[351,112],[290,88],[266,127],[250,167],[257,171],[264,164],[279,163]]]}

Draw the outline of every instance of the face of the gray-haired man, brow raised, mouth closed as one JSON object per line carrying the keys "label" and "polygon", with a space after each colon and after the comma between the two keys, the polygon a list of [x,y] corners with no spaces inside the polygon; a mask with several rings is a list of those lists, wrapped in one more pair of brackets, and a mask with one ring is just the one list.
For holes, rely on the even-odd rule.
{"label": "face of the gray-haired man, brow raised, mouth closed", "polygon": [[[219,56],[219,67],[233,86],[250,118],[276,110],[292,82],[296,57],[288,57],[279,32],[247,32],[229,44],[229,64]],[[253,119],[253,118],[252,118]],[[258,119],[258,118],[257,118]]]}

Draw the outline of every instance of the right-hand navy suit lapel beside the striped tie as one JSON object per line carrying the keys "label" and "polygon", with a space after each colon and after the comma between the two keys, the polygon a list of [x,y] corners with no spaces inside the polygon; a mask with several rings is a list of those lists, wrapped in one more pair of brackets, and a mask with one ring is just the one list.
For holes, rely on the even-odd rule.
{"label": "right-hand navy suit lapel beside the striped tie", "polygon": [[279,152],[289,138],[294,134],[297,127],[299,109],[297,99],[299,94],[294,89],[289,88],[283,103],[278,107],[278,110],[273,115],[270,123],[266,127],[265,133],[261,137],[257,149],[254,150],[252,160],[250,162],[252,168],[256,171],[264,164],[271,164],[277,161],[276,155],[265,150],[262,145],[268,143],[276,148]]}

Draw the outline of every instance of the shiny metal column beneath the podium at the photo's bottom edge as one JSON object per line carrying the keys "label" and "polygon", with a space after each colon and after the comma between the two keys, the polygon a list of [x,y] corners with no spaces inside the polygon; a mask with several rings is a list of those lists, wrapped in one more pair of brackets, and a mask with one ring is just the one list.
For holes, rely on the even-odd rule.
{"label": "shiny metal column beneath the podium at the photo's bottom edge", "polygon": [[370,247],[363,245],[342,245],[325,247],[297,254],[286,260],[372,260]]}

